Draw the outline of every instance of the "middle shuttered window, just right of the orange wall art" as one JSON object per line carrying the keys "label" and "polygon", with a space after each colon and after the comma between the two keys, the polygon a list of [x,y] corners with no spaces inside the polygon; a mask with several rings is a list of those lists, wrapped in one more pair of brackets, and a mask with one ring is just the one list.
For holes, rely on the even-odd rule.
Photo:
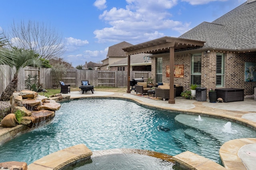
{"label": "middle shuttered window, just right of the orange wall art", "polygon": [[201,54],[192,55],[191,59],[191,84],[201,85]]}

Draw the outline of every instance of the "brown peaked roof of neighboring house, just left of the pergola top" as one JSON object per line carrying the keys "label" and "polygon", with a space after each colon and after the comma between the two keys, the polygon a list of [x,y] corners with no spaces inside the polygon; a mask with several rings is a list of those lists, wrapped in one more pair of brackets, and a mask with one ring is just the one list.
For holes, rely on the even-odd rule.
{"label": "brown peaked roof of neighboring house, just left of the pergola top", "polygon": [[118,43],[116,45],[112,45],[108,47],[107,57],[127,57],[122,48],[129,47],[132,44],[123,41],[122,43]]}

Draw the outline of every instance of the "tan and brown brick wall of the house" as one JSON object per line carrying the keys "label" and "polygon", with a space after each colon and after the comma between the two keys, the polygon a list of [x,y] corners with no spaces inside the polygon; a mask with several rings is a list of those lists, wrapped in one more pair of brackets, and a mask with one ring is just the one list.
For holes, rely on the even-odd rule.
{"label": "tan and brown brick wall of the house", "polygon": [[[201,70],[201,86],[207,88],[216,88],[216,52],[202,52],[202,70]],[[155,55],[156,56],[156,55]],[[190,90],[190,73],[191,73],[191,56],[190,53],[176,54],[174,56],[174,65],[184,64],[184,78],[174,78],[174,84],[183,86],[183,90]],[[166,66],[170,63],[169,54],[157,55],[162,57],[162,82],[169,83],[170,78],[166,77]],[[152,72],[151,76],[156,83],[156,62],[157,58],[152,56]],[[244,95],[254,94],[254,86],[256,82],[244,81],[244,65],[245,62],[256,63],[256,52],[250,53],[225,53],[225,77],[223,88],[242,88]],[[208,93],[207,93],[208,96]]]}

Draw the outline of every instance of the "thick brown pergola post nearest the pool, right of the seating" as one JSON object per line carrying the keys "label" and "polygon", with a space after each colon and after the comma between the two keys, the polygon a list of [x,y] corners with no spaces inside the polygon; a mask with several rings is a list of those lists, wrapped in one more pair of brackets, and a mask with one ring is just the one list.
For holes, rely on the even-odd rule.
{"label": "thick brown pergola post nearest the pool, right of the seating", "polygon": [[174,100],[174,47],[170,47],[170,99],[169,104],[175,104]]}

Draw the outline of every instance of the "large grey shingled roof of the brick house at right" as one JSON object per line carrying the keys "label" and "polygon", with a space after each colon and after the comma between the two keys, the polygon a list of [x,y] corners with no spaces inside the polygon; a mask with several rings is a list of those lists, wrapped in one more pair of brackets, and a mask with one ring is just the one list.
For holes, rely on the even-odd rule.
{"label": "large grey shingled roof of the brick house at right", "polygon": [[212,23],[203,22],[179,38],[206,41],[204,47],[256,50],[256,1],[243,3]]}

